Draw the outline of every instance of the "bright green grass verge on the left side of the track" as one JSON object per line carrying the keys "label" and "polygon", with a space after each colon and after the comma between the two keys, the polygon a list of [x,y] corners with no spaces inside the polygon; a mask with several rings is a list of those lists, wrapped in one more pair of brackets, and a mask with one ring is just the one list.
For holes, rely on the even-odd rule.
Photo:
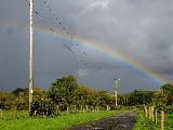
{"label": "bright green grass verge on the left side of the track", "polygon": [[54,118],[31,118],[26,113],[4,113],[0,119],[0,130],[61,130],[74,125],[91,120],[98,120],[110,115],[119,114],[120,110],[91,112],[84,114],[68,114]]}

